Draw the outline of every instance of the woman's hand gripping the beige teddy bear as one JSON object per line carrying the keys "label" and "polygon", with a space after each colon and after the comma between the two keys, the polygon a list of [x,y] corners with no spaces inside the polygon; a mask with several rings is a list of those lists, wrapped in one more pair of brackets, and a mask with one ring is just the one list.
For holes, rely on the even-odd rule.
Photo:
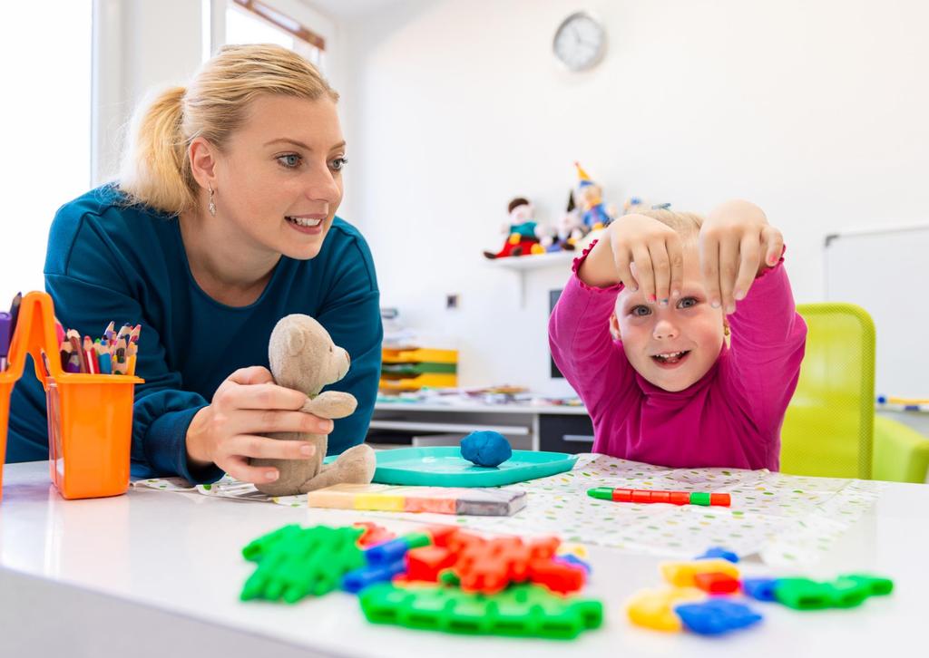
{"label": "woman's hand gripping the beige teddy bear", "polygon": [[236,370],[220,384],[213,404],[204,406],[190,421],[187,454],[194,466],[216,464],[243,482],[273,482],[274,468],[249,465],[249,458],[306,459],[315,448],[304,441],[281,441],[268,432],[328,434],[333,421],[299,411],[307,396],[278,386],[268,368]]}

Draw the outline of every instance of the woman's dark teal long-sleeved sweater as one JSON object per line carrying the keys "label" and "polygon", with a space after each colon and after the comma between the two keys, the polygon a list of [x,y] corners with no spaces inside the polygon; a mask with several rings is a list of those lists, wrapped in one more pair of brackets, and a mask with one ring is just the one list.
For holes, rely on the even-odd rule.
{"label": "woman's dark teal long-sleeved sweater", "polygon": [[[132,432],[133,475],[181,475],[214,482],[216,467],[191,472],[185,439],[190,419],[232,371],[268,367],[268,337],[291,313],[320,321],[347,349],[351,369],[333,386],[358,398],[335,421],[330,454],[360,444],[373,413],[383,329],[374,264],[360,232],[335,218],[316,258],[281,257],[255,303],[230,307],[208,296],[190,274],[177,219],[126,207],[117,189],[98,187],[59,209],[46,254],[46,290],[69,329],[99,336],[141,324]],[[48,458],[46,401],[32,365],[13,389],[7,461]]]}

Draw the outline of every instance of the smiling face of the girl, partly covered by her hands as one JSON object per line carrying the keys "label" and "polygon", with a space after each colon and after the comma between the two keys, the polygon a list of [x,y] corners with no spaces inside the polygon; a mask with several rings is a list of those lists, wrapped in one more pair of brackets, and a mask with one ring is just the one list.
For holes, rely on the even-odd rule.
{"label": "smiling face of the girl, partly covered by her hands", "polygon": [[626,358],[647,381],[683,391],[707,373],[723,347],[723,311],[707,300],[697,249],[684,253],[681,296],[666,306],[647,303],[641,290],[617,296],[610,329]]}

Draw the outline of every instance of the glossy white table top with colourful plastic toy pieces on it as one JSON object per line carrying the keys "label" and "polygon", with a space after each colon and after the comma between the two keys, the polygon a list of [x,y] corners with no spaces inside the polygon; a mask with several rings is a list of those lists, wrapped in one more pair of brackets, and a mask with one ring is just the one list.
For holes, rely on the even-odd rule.
{"label": "glossy white table top with colourful plastic toy pieces on it", "polygon": [[[68,501],[46,462],[4,469],[0,503],[0,656],[338,655],[396,658],[557,656],[925,655],[929,487],[888,484],[810,577],[870,571],[896,591],[845,611],[754,604],[761,626],[706,639],[631,626],[622,601],[660,585],[655,557],[590,548],[583,594],[606,623],[573,641],[452,636],[368,624],[355,597],[296,605],[238,600],[253,565],[240,549],[284,523],[346,524],[351,512],[303,510],[195,494],[130,490]],[[386,522],[397,531],[412,523]],[[743,561],[743,572],[774,574]],[[169,653],[170,652],[170,653]]]}

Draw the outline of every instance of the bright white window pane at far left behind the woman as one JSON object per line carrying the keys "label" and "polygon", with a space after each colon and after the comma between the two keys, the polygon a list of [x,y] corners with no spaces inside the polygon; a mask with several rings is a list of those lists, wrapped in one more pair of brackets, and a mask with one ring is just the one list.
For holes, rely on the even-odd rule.
{"label": "bright white window pane at far left behind the woman", "polygon": [[18,290],[45,290],[55,212],[91,185],[92,9],[91,0],[45,0],[4,10],[0,309]]}

